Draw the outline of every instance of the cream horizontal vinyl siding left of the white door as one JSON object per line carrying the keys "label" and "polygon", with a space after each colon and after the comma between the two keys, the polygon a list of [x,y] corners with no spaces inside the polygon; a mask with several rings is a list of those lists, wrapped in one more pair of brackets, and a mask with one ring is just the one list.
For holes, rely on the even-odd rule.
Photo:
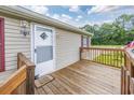
{"label": "cream horizontal vinyl siding left of the white door", "polygon": [[5,70],[17,68],[17,53],[30,58],[30,35],[21,34],[19,26],[21,20],[4,17]]}

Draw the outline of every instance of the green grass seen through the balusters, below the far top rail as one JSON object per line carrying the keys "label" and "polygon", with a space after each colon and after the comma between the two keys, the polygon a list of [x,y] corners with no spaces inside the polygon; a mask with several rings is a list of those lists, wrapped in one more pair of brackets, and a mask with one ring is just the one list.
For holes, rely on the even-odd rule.
{"label": "green grass seen through the balusters, below the far top rail", "polygon": [[100,63],[113,66],[117,68],[120,68],[124,63],[124,59],[122,59],[121,53],[108,53],[108,54],[100,54],[96,58],[94,58],[95,61],[98,61]]}

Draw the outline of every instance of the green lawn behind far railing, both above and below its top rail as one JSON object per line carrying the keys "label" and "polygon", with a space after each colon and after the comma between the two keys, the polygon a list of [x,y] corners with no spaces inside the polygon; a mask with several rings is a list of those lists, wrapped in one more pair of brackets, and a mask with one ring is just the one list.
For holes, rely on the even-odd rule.
{"label": "green lawn behind far railing, both above and below its top rail", "polygon": [[[122,48],[122,45],[92,45],[92,47],[110,47],[110,48]],[[94,58],[94,60],[99,61],[100,63],[110,65],[113,67],[122,67],[124,66],[124,55],[122,53],[107,53],[100,54]]]}

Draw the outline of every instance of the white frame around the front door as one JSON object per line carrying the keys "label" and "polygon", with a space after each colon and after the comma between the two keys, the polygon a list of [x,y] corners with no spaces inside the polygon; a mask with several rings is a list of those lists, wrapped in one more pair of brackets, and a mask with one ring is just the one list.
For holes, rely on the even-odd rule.
{"label": "white frame around the front door", "polygon": [[[55,60],[55,58],[56,58],[56,32],[55,32],[55,29],[54,28],[52,28],[52,27],[48,27],[48,26],[45,26],[45,25],[41,25],[41,24],[37,24],[37,23],[31,23],[30,24],[30,34],[31,34],[31,61],[34,61],[35,62],[35,29],[36,29],[36,26],[40,26],[40,27],[43,27],[43,28],[46,28],[46,29],[50,29],[50,30],[52,30],[52,32],[53,32],[53,71],[55,71],[56,70],[56,60]],[[53,72],[52,71],[52,72]],[[51,73],[51,72],[50,72]]]}

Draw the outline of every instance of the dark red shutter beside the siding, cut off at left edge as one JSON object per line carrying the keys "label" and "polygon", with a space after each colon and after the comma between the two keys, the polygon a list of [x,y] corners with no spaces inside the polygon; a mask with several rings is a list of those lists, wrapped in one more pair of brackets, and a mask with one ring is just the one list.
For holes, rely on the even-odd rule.
{"label": "dark red shutter beside the siding, cut off at left edge", "polygon": [[4,19],[0,18],[0,71],[4,71]]}

